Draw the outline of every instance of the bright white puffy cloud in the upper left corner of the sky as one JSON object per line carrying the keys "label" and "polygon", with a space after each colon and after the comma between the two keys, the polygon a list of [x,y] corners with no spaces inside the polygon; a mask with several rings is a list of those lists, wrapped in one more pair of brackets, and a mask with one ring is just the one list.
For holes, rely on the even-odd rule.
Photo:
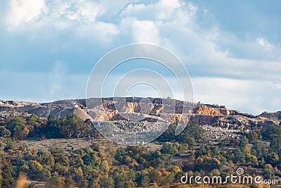
{"label": "bright white puffy cloud in the upper left corner of the sky", "polygon": [[60,24],[65,25],[70,21],[93,23],[98,15],[104,13],[102,5],[87,0],[12,0],[9,6],[6,24],[10,30],[60,27]]}

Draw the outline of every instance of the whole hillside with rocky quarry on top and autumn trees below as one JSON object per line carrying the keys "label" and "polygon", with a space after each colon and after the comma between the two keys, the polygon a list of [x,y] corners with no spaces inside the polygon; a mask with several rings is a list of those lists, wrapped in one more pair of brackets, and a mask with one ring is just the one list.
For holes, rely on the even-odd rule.
{"label": "whole hillside with rocky quarry on top and autumn trees below", "polygon": [[[275,181],[271,187],[279,187],[281,127],[277,118],[171,99],[165,101],[166,106],[164,99],[150,99],[147,105],[142,98],[123,99],[91,99],[88,106],[84,99],[44,104],[0,101],[1,187],[15,187],[22,177],[29,187],[40,188],[182,187],[185,173],[225,177],[235,175],[239,168],[244,175],[261,175]],[[173,105],[175,113],[169,108]],[[181,113],[188,105],[193,107],[190,116]],[[144,130],[138,122],[128,123],[124,118],[139,118],[141,112],[145,112],[140,123]],[[176,124],[172,123],[153,142],[144,144],[138,139],[137,146],[124,146],[93,129],[86,120],[88,113],[94,114],[94,125],[112,123],[135,132],[146,132],[144,127],[166,118],[174,122],[190,118],[191,123],[181,134],[174,134]],[[186,185],[197,186],[194,182]],[[244,187],[233,187],[240,186]]]}

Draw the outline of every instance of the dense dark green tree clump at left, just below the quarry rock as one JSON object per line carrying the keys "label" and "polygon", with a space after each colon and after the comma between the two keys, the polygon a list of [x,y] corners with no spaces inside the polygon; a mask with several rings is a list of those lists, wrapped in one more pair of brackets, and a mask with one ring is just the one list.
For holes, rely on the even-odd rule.
{"label": "dense dark green tree clump at left, just below the quarry rock", "polygon": [[43,138],[77,138],[89,136],[91,123],[81,120],[77,115],[69,114],[65,118],[57,119],[49,116],[47,120],[32,114],[28,118],[16,116],[0,122],[0,136],[13,137],[15,140],[27,137]]}

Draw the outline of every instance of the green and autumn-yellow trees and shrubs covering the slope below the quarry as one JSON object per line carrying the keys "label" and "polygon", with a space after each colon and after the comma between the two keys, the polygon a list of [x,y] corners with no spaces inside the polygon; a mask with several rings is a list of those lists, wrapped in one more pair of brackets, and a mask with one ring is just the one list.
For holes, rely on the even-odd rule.
{"label": "green and autumn-yellow trees and shrubs covering the slope below the quarry", "polygon": [[[97,137],[89,120],[76,115],[36,115],[7,118],[0,122],[0,187],[15,187],[20,175],[46,182],[45,187],[183,187],[181,177],[221,175],[243,168],[249,175],[281,177],[281,126],[251,131],[242,139],[221,139],[209,144],[199,125],[188,124],[178,136],[176,124],[157,139],[161,149],[115,146],[101,139],[84,149],[50,148],[34,151],[15,146],[22,139]],[[263,139],[261,139],[263,138]],[[265,140],[270,144],[266,145]],[[233,144],[236,143],[236,144]],[[28,183],[34,187],[34,182]],[[186,185],[187,186],[187,185]]]}

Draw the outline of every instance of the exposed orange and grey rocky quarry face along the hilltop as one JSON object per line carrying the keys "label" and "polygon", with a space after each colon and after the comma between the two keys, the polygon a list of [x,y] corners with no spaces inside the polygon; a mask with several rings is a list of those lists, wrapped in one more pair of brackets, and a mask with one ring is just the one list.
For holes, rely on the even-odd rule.
{"label": "exposed orange and grey rocky quarry face along the hilltop", "polygon": [[[249,115],[221,106],[190,104],[174,99],[149,99],[149,102],[143,101],[139,97],[91,99],[89,106],[86,106],[85,99],[62,100],[43,104],[0,101],[0,116],[12,113],[34,113],[43,118],[47,118],[48,115],[63,118],[67,114],[73,113],[86,120],[89,118],[89,113],[92,120],[98,122],[141,119],[148,122],[169,120],[174,123],[181,120],[187,123],[190,120],[191,123],[199,125],[235,130],[254,130],[273,123],[280,123],[280,120]],[[182,114],[183,106],[193,107],[192,111],[188,112],[191,115]]]}

